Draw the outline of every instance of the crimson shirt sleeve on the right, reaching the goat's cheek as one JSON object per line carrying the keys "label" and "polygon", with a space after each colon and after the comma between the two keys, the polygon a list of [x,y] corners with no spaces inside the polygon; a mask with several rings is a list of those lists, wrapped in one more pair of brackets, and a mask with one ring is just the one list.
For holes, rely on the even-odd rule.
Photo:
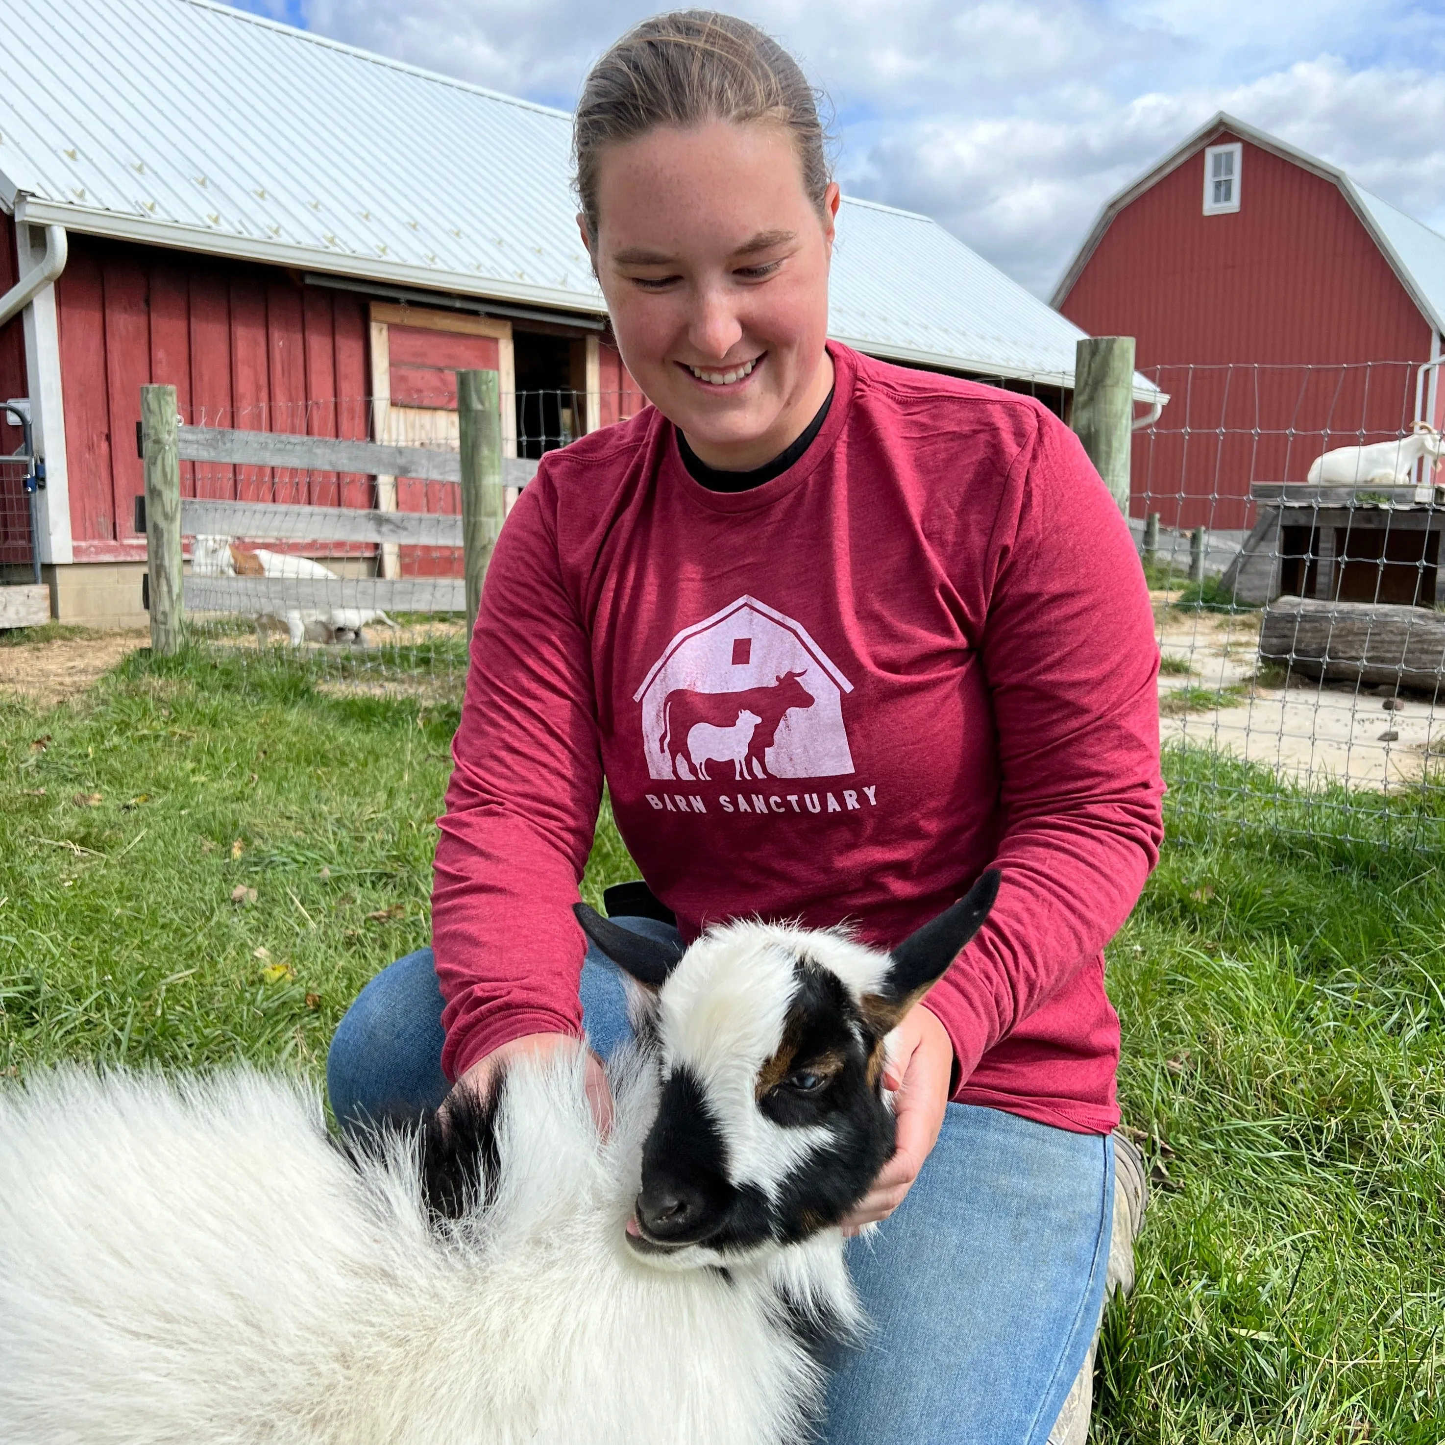
{"label": "crimson shirt sleeve on the right, reaching the goat's cheek", "polygon": [[1163,838],[1143,568],[1117,503],[1052,416],[1013,464],[987,556],[980,652],[998,737],[1003,884],[928,996],[959,1084],[1098,957]]}

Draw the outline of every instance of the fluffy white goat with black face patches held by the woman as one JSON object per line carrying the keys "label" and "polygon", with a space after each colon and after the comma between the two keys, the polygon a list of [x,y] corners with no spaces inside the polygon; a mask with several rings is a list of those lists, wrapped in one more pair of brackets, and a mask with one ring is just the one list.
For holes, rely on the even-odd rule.
{"label": "fluffy white goat with black face patches held by the woman", "polygon": [[886,1039],[984,920],[892,954],[731,923],[634,980],[598,1137],[581,1056],[342,1150],[314,1091],[58,1071],[0,1092],[6,1445],[763,1445],[858,1309],[837,1221],[893,1149]]}

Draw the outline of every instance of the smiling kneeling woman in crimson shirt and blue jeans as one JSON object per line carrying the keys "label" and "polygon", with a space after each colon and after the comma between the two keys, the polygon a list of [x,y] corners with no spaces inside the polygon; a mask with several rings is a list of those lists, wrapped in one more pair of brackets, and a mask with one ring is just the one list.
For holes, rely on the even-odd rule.
{"label": "smiling kneeling woman in crimson shirt and blue jeans", "polygon": [[507,522],[435,959],[363,993],[332,1103],[435,1105],[575,1048],[584,1016],[616,1040],[569,910],[604,777],[683,938],[760,913],[889,944],[998,867],[990,923],[900,1029],[897,1153],[850,1220],[886,1221],[851,1256],[876,1331],[827,1438],[1043,1442],[1110,1248],[1101,949],[1160,838],[1152,618],[1045,407],[827,342],[822,143],[796,64],[731,17],[650,20],[590,75],[579,224],[652,406],[549,454]]}

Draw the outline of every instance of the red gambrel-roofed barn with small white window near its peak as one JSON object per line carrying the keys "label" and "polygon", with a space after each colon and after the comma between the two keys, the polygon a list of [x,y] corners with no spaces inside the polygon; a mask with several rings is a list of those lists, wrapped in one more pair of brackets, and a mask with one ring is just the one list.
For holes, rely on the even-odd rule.
{"label": "red gambrel-roofed barn with small white window near its peak", "polygon": [[1133,335],[1172,397],[1136,438],[1136,517],[1244,529],[1251,481],[1441,420],[1445,237],[1222,113],[1103,208],[1052,302]]}

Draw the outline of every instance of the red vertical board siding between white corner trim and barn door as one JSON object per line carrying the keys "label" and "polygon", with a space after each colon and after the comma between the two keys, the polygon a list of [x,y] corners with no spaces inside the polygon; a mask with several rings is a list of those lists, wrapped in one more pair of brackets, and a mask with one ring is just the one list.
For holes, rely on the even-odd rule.
{"label": "red vertical board siding between white corner trim and barn door", "polygon": [[[263,266],[72,236],[56,285],[77,561],[143,555],[140,387],[176,387],[195,425],[368,435],[364,302]],[[3,351],[0,351],[3,355]],[[262,467],[182,468],[186,496],[371,504],[371,481]]]}

